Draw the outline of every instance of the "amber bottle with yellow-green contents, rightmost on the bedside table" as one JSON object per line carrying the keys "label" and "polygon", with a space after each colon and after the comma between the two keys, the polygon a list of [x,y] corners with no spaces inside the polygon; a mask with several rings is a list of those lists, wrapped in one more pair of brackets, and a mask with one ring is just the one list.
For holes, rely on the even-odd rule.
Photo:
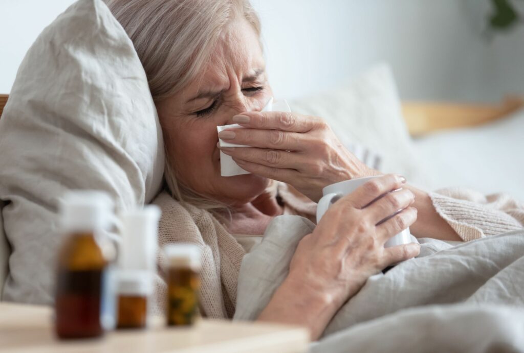
{"label": "amber bottle with yellow-green contents, rightmost on the bedside table", "polygon": [[200,290],[200,248],[194,244],[168,244],[167,325],[187,326],[198,315]]}

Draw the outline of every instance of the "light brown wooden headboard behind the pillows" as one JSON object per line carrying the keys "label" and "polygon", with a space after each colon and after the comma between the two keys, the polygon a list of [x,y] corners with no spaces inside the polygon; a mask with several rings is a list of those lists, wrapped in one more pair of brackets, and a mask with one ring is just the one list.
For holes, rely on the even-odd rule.
{"label": "light brown wooden headboard behind the pillows", "polygon": [[[8,95],[0,95],[0,116],[8,97]],[[420,136],[443,129],[482,125],[504,118],[522,107],[524,107],[524,98],[519,97],[508,98],[498,105],[408,102],[402,104],[402,113],[409,133]]]}

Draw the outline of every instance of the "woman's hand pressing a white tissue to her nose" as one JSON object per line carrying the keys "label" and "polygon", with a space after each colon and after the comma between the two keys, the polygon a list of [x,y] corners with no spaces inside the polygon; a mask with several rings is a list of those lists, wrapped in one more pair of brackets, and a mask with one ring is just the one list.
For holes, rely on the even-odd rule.
{"label": "woman's hand pressing a white tissue to her nose", "polygon": [[321,118],[246,112],[233,121],[247,129],[225,130],[219,138],[255,148],[221,151],[248,172],[288,183],[315,202],[327,185],[379,174],[347,151]]}

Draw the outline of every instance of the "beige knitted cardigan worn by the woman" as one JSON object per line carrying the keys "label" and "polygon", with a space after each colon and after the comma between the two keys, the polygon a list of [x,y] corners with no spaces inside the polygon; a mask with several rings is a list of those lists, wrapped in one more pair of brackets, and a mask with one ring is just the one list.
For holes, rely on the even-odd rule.
{"label": "beige knitted cardigan worn by the woman", "polygon": [[[314,218],[315,204],[285,185],[278,195],[286,208]],[[445,189],[430,193],[433,206],[464,241],[502,234],[523,228],[524,206],[506,195],[484,196],[465,189]],[[231,318],[235,312],[237,280],[245,251],[209,212],[182,206],[166,192],[153,202],[162,210],[159,225],[160,248],[167,243],[193,243],[202,251],[200,311],[203,316]],[[166,301],[166,282],[159,252],[156,278],[156,312]]]}

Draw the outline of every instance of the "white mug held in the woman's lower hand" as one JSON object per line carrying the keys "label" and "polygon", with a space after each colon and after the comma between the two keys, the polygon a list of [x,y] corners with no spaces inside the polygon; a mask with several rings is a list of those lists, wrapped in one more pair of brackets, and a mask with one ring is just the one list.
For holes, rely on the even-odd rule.
{"label": "white mug held in the woman's lower hand", "polygon": [[[334,198],[341,198],[355,191],[359,186],[366,183],[366,181],[376,178],[376,176],[357,178],[351,180],[340,181],[339,183],[331,184],[322,189],[322,195],[324,195],[318,206],[316,207],[316,223],[320,221],[324,213],[328,211],[330,206],[333,204]],[[391,247],[403,244],[413,243],[413,237],[409,233],[409,227],[398,233],[394,237],[391,237],[384,247]]]}

